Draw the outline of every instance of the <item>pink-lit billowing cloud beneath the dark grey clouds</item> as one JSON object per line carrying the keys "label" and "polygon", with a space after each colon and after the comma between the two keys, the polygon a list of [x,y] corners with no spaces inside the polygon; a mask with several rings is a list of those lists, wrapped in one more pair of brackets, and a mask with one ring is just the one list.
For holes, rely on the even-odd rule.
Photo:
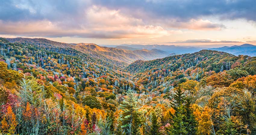
{"label": "pink-lit billowing cloud beneath the dark grey clouds", "polygon": [[1,34],[44,37],[82,38],[157,38],[171,34],[180,34],[180,30],[166,30],[161,26],[145,24],[141,19],[109,10],[105,7],[92,6],[80,16],[76,26],[62,21],[2,21]]}

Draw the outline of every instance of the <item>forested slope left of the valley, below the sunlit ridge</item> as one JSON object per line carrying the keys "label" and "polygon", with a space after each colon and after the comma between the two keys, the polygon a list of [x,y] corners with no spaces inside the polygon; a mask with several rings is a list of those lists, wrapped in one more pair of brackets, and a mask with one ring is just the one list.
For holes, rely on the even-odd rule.
{"label": "forested slope left of the valley, below the sunlit ridge", "polygon": [[97,78],[102,75],[112,78],[118,76],[127,78],[126,74],[119,71],[122,70],[121,68],[113,68],[111,65],[105,64],[106,62],[100,64],[89,54],[72,48],[10,43],[4,38],[0,38],[0,48],[0,59],[9,61],[7,62],[9,67],[39,78],[40,73],[47,76],[59,75],[64,78],[69,76],[77,79]]}

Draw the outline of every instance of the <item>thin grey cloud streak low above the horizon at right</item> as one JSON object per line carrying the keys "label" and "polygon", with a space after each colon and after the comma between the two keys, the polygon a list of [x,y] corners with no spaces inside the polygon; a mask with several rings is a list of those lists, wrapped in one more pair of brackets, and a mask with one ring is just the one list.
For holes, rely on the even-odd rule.
{"label": "thin grey cloud streak low above the horizon at right", "polygon": [[218,39],[189,39],[167,43],[246,43],[246,41],[218,40]]}

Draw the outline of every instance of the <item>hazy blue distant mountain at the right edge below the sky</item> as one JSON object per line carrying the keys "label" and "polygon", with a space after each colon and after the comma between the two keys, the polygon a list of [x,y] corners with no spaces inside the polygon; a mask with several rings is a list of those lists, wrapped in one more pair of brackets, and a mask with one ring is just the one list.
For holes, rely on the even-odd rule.
{"label": "hazy blue distant mountain at the right edge below the sky", "polygon": [[208,50],[216,50],[221,52],[227,52],[234,55],[249,55],[256,56],[256,46],[252,44],[242,44],[240,46],[223,46],[219,48],[210,48]]}

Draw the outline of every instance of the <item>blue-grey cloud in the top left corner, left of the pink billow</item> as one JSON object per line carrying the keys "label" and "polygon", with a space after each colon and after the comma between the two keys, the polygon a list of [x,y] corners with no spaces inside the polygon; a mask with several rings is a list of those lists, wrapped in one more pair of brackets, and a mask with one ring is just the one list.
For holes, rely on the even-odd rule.
{"label": "blue-grey cloud in the top left corner, left of the pink billow", "polygon": [[[81,15],[88,2],[77,0],[5,0],[1,1],[0,16],[5,21],[64,20]],[[70,18],[70,19],[71,19]]]}

